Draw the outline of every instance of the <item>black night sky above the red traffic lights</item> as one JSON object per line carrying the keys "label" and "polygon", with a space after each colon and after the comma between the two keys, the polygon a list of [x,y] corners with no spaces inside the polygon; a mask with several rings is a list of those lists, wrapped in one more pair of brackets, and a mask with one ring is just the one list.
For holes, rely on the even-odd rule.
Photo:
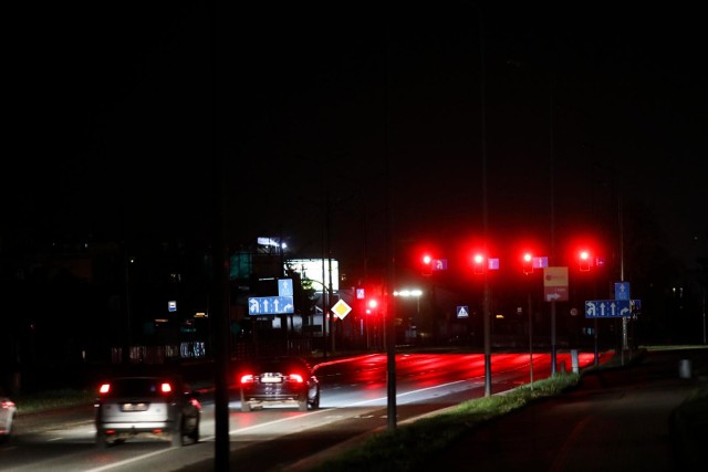
{"label": "black night sky above the red traffic lights", "polygon": [[214,36],[205,6],[146,3],[8,17],[13,228],[205,237],[216,147],[232,245],[282,234],[317,255],[329,196],[335,255],[363,234],[381,251],[386,221],[451,248],[481,234],[486,182],[500,245],[548,247],[552,217],[559,238],[602,231],[622,196],[680,258],[706,254],[693,3],[267,2],[219,7]]}

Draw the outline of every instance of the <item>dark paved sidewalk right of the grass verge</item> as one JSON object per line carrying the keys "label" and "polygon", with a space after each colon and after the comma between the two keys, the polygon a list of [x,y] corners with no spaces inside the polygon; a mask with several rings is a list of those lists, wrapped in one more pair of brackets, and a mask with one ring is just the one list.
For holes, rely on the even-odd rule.
{"label": "dark paved sidewalk right of the grass verge", "polygon": [[708,463],[708,400],[679,409],[700,388],[708,388],[708,349],[648,350],[475,428],[418,470],[700,470]]}

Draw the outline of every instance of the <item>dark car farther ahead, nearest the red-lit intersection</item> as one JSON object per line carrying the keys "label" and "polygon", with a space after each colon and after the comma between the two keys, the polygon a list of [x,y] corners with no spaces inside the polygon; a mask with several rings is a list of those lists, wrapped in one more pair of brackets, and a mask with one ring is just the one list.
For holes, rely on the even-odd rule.
{"label": "dark car farther ahead, nearest the red-lit intersection", "polygon": [[241,411],[269,405],[296,405],[300,411],[320,408],[320,381],[299,357],[271,357],[244,363],[238,370]]}

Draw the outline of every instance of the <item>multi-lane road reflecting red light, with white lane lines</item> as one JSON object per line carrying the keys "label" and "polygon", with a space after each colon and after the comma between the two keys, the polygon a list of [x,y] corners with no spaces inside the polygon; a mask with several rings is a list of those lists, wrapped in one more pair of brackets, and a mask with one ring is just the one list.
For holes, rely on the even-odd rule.
{"label": "multi-lane road reflecting red light, with white lane lines", "polygon": [[[593,361],[590,353],[581,353],[579,359],[581,368]],[[494,354],[492,392],[528,382],[529,360],[529,354]],[[568,354],[559,354],[559,361],[571,366]],[[483,366],[481,354],[397,355],[397,421],[483,396]],[[550,375],[550,355],[534,354],[533,373],[535,380]],[[386,427],[385,355],[324,363],[317,366],[316,375],[322,382],[322,399],[315,411],[274,407],[243,413],[239,401],[230,402],[230,461],[235,470],[281,470]],[[208,395],[202,400],[201,440],[183,448],[171,448],[165,439],[146,438],[98,450],[94,447],[93,406],[21,415],[15,438],[0,447],[0,469],[6,472],[211,470],[215,406]]]}

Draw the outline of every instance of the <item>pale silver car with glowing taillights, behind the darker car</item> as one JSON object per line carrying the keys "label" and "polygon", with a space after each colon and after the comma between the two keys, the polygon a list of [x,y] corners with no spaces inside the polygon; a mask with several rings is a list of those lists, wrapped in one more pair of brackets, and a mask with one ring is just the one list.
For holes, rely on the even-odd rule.
{"label": "pale silver car with glowing taillights, behind the darker car", "polygon": [[169,438],[173,445],[199,441],[199,392],[179,376],[115,377],[101,384],[95,402],[96,444],[138,434]]}

